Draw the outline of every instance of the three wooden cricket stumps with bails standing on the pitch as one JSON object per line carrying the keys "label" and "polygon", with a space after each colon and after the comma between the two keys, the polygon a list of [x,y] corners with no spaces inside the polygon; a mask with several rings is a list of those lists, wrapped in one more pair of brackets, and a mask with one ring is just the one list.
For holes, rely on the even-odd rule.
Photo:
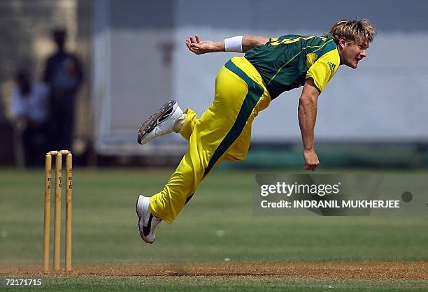
{"label": "three wooden cricket stumps with bails standing on the pitch", "polygon": [[43,270],[48,272],[50,244],[50,197],[52,156],[55,156],[55,218],[54,218],[54,270],[61,269],[61,197],[62,156],[66,156],[66,243],[65,267],[71,270],[71,203],[73,196],[73,156],[69,150],[50,151],[45,156],[45,224],[43,231]]}

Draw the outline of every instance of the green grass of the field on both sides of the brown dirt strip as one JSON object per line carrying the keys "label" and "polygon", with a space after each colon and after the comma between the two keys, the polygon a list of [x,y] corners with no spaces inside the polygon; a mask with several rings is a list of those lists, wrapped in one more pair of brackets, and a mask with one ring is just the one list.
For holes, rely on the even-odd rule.
{"label": "green grass of the field on both sides of the brown dirt strip", "polygon": [[[99,264],[102,269],[106,264],[198,267],[212,263],[227,269],[227,265],[234,263],[269,266],[269,263],[416,262],[422,266],[419,271],[422,276],[322,279],[324,277],[227,273],[205,277],[63,273],[45,277],[45,288],[139,290],[144,283],[148,289],[159,291],[428,289],[428,217],[255,216],[252,187],[259,170],[214,170],[178,219],[171,225],[163,223],[157,230],[157,242],[144,244],[138,235],[136,197],[141,192],[151,195],[158,191],[171,171],[75,169],[73,264],[77,267]],[[275,170],[275,173],[280,172]],[[41,265],[43,175],[42,169],[0,170],[0,272],[3,275],[18,275],[21,267],[37,270]],[[225,258],[230,261],[225,263]],[[13,268],[15,272],[11,273]],[[38,273],[31,270],[25,275]]]}

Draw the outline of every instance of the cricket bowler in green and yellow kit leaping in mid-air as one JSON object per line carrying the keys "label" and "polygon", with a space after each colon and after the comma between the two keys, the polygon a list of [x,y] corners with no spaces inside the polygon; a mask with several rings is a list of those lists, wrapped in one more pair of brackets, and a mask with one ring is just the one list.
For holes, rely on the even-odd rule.
{"label": "cricket bowler in green and yellow kit leaping in mid-air", "polygon": [[304,168],[315,170],[314,127],[318,96],[340,65],[357,68],[376,32],[368,20],[339,20],[324,36],[289,34],[279,38],[235,36],[224,41],[186,40],[195,54],[243,52],[220,69],[214,101],[201,117],[176,101],[164,104],[138,131],[138,143],[167,133],[180,133],[189,141],[187,153],[164,189],[136,203],[141,238],[155,241],[155,228],[176,219],[192,198],[199,182],[223,159],[242,161],[250,147],[251,124],[257,114],[283,92],[303,86],[299,98],[299,126]]}

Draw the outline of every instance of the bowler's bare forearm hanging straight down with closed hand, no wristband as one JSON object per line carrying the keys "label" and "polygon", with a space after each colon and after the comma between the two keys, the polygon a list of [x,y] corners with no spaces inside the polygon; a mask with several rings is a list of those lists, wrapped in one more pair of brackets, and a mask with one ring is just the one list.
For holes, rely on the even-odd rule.
{"label": "bowler's bare forearm hanging straight down with closed hand, no wristband", "polygon": [[320,96],[320,92],[316,89],[313,79],[309,78],[305,82],[299,99],[299,126],[304,144],[303,156],[306,170],[315,170],[320,165],[313,147],[318,96]]}

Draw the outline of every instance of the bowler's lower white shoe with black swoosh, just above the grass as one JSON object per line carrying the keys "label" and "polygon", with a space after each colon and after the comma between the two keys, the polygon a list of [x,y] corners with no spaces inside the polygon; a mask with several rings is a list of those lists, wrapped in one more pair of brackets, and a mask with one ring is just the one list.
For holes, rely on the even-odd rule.
{"label": "bowler's lower white shoe with black swoosh, just above the grass", "polygon": [[136,203],[138,229],[140,231],[141,238],[145,242],[153,243],[155,241],[155,229],[162,219],[159,219],[150,213],[149,205],[150,197],[145,197],[143,195],[138,196]]}

